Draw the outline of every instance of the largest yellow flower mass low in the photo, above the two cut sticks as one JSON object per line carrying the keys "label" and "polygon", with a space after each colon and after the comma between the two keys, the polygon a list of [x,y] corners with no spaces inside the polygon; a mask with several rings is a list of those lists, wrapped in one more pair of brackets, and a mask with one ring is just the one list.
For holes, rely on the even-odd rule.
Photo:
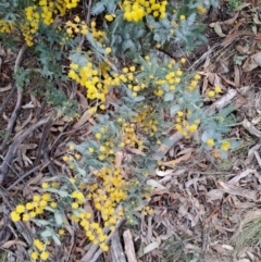
{"label": "largest yellow flower mass low in the photo, above the two cut sticks", "polygon": [[[119,204],[126,199],[126,192],[124,190],[125,182],[117,166],[94,171],[94,175],[97,177],[97,180],[102,184],[101,187],[99,187],[98,183],[89,185],[87,199],[92,200],[96,210],[101,212],[104,226],[109,227],[110,230],[114,230],[117,220],[123,216],[123,209]],[[86,186],[84,185],[83,188],[86,188]],[[99,245],[103,251],[108,251],[109,247],[104,244],[108,236],[103,233],[101,225],[90,221],[90,213],[83,212],[82,209],[78,209],[78,205],[84,203],[84,194],[82,191],[74,191],[72,198],[75,199],[72,203],[72,209],[77,209],[78,211],[73,212],[72,221],[85,229],[85,234],[90,241]]]}

